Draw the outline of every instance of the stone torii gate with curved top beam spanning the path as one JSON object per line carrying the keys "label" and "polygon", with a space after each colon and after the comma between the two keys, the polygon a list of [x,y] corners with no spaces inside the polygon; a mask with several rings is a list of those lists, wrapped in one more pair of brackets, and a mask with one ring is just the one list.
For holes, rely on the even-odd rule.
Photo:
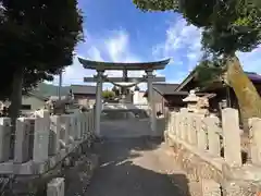
{"label": "stone torii gate with curved top beam spanning the path", "polygon": [[[152,134],[157,132],[157,118],[156,118],[156,106],[153,100],[153,89],[152,82],[165,82],[165,77],[156,77],[153,75],[154,70],[164,70],[165,65],[170,62],[170,59],[156,61],[156,62],[141,62],[141,63],[115,63],[115,62],[99,62],[78,58],[80,64],[84,69],[96,70],[97,75],[94,77],[85,77],[84,82],[90,83],[96,82],[96,117],[95,126],[96,135],[100,135],[100,114],[101,114],[101,93],[102,83],[113,82],[113,83],[144,83],[148,84],[148,102],[150,109],[150,126]],[[104,71],[107,70],[117,70],[123,71],[123,77],[107,77]],[[144,77],[128,77],[127,71],[145,71],[146,75]]]}

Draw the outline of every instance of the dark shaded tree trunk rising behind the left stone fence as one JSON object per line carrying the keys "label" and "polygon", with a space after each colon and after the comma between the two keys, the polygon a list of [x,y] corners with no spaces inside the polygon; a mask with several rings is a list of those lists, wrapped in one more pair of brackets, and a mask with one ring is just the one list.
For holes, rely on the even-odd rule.
{"label": "dark shaded tree trunk rising behind the left stone fence", "polygon": [[11,158],[13,157],[14,150],[14,134],[15,134],[15,125],[16,118],[20,114],[21,105],[22,105],[22,88],[23,88],[23,69],[18,69],[13,74],[13,84],[12,84],[12,95],[11,95],[11,106],[9,117],[11,118],[12,124],[12,136],[11,136]]}

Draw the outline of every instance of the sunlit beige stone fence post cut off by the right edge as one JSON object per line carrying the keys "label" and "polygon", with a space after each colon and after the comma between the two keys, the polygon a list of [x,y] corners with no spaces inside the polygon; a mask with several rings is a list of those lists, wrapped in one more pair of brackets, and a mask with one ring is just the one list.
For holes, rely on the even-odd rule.
{"label": "sunlit beige stone fence post cut off by the right edge", "polygon": [[252,118],[248,121],[250,137],[250,157],[253,164],[261,164],[261,119]]}

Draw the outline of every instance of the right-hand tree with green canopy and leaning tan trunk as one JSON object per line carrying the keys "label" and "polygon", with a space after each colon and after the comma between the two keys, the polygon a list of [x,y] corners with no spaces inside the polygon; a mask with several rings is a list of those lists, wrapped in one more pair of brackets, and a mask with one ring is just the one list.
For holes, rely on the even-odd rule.
{"label": "right-hand tree with green canopy and leaning tan trunk", "polygon": [[[174,11],[202,29],[202,49],[224,72],[222,77],[238,99],[245,119],[261,118],[260,96],[244,73],[236,51],[261,42],[261,11],[254,0],[133,0],[142,11]],[[217,63],[216,63],[217,62]]]}

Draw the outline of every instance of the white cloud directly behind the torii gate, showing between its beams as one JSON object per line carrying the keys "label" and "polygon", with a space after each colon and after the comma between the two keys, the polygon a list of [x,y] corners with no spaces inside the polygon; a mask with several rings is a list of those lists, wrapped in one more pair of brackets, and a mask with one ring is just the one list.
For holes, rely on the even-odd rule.
{"label": "white cloud directly behind the torii gate, showing between its beams", "polygon": [[[113,30],[107,38],[92,37],[87,34],[87,41],[82,46],[80,53],[82,58],[96,60],[96,61],[111,61],[111,62],[141,62],[141,57],[138,57],[132,52],[129,48],[129,36],[126,30]],[[84,51],[84,52],[83,52]],[[103,58],[105,57],[105,58]],[[73,65],[67,66],[63,73],[63,85],[71,84],[84,84],[84,77],[91,77],[96,74],[94,70],[85,70],[78,62],[77,58],[74,58]],[[122,71],[107,71],[104,73],[108,76],[121,77]],[[128,76],[140,77],[145,74],[144,71],[129,71]],[[159,75],[158,73],[156,73]],[[53,84],[59,84],[59,78],[55,76]],[[90,83],[86,83],[89,85]],[[91,85],[95,85],[92,83]],[[105,83],[103,88],[111,88],[112,84]],[[141,89],[147,88],[146,84],[139,84]]]}

